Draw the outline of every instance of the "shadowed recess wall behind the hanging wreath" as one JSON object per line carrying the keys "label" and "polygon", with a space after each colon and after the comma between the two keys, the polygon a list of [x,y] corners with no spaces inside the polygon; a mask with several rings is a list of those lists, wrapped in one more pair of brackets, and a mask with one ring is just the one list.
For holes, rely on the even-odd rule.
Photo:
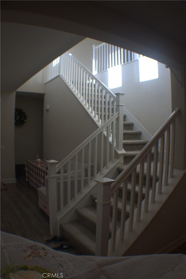
{"label": "shadowed recess wall behind the hanging wreath", "polygon": [[15,107],[27,116],[24,125],[15,126],[15,164],[24,164],[26,160],[35,160],[37,153],[43,157],[43,98],[17,93]]}

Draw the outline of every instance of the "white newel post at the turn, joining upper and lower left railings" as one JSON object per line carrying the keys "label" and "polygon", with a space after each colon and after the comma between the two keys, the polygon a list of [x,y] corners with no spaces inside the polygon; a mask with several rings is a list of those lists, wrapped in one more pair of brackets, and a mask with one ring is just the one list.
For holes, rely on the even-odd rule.
{"label": "white newel post at the turn, joining upper and lower left railings", "polygon": [[116,112],[119,112],[119,116],[116,119],[116,151],[120,158],[121,165],[123,165],[125,153],[123,149],[123,107],[124,107],[124,95],[125,93],[115,93],[116,95]]}

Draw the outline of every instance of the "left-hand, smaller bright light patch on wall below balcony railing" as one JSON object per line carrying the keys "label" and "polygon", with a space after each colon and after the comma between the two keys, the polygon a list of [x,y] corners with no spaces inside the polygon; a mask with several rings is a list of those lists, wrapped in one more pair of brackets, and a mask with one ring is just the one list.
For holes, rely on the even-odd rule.
{"label": "left-hand, smaller bright light patch on wall below balcony railing", "polygon": [[110,89],[121,87],[121,65],[112,67],[108,69],[108,87]]}

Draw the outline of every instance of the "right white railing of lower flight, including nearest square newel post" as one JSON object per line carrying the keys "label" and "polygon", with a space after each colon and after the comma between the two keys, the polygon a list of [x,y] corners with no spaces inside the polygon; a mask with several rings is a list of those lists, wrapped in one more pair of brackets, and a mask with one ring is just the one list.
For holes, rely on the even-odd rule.
{"label": "right white railing of lower flight, including nearest square newel post", "polygon": [[[96,227],[96,241],[98,239],[99,247],[96,249],[97,255],[115,255],[117,249],[121,249],[121,246],[127,243],[130,239],[130,233],[133,231],[134,223],[140,223],[142,210],[144,213],[148,213],[149,204],[154,204],[158,195],[162,193],[162,186],[167,186],[169,177],[173,177],[174,171],[174,145],[175,145],[175,123],[178,117],[180,109],[177,108],[162,127],[155,133],[155,135],[144,146],[140,153],[128,164],[128,166],[119,174],[115,182],[113,180],[109,182],[98,181],[101,190],[98,192],[97,199],[102,206],[97,207],[96,215],[103,217],[99,223],[101,226]],[[165,144],[166,139],[166,144]],[[160,146],[160,152],[158,155],[158,148]],[[164,146],[165,146],[165,158],[164,158]],[[152,149],[154,149],[154,159],[151,162]],[[158,158],[159,157],[159,158]],[[144,162],[146,162],[146,185],[145,185],[145,198],[142,201],[142,190],[144,181]],[[165,160],[164,160],[165,159]],[[153,164],[153,168],[152,168]],[[159,166],[159,167],[158,167]],[[140,169],[139,176],[139,190],[137,208],[135,209],[135,187],[136,187],[136,173],[137,168]],[[150,190],[150,178],[153,175],[152,189]],[[131,182],[131,196],[130,196],[130,214],[127,221],[126,216],[126,199],[127,199],[127,185],[128,178],[132,175]],[[158,177],[158,182],[157,182]],[[105,183],[106,186],[105,187]],[[112,184],[113,183],[113,184]],[[112,184],[112,188],[111,188]],[[117,208],[118,208],[118,191],[122,185],[122,209],[121,209],[121,222],[119,229],[117,228]],[[100,195],[99,195],[100,193]],[[110,193],[110,196],[108,196]],[[113,194],[113,212],[112,212],[112,235],[108,241],[108,227],[110,217],[110,201]],[[106,200],[105,197],[106,196]],[[104,199],[102,199],[102,197]],[[107,205],[107,212],[102,214],[102,207]],[[135,213],[135,214],[134,214]],[[135,216],[135,219],[134,219]],[[127,226],[127,228],[126,228]],[[104,230],[104,232],[103,232]],[[100,239],[100,235],[102,239]],[[97,245],[97,242],[96,242]],[[127,246],[127,245],[126,245]],[[123,254],[124,254],[123,249]],[[121,253],[121,251],[120,251]],[[122,255],[122,254],[121,254]]]}

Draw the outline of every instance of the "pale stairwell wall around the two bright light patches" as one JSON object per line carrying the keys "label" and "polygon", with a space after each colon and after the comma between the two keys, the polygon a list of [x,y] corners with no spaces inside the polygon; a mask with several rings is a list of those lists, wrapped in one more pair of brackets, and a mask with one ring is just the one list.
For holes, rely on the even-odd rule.
{"label": "pale stairwell wall around the two bright light patches", "polygon": [[[159,78],[140,82],[138,60],[122,65],[122,86],[112,92],[124,92],[127,110],[151,134],[161,127],[171,114],[170,70],[158,62]],[[108,71],[96,74],[108,86]]]}

